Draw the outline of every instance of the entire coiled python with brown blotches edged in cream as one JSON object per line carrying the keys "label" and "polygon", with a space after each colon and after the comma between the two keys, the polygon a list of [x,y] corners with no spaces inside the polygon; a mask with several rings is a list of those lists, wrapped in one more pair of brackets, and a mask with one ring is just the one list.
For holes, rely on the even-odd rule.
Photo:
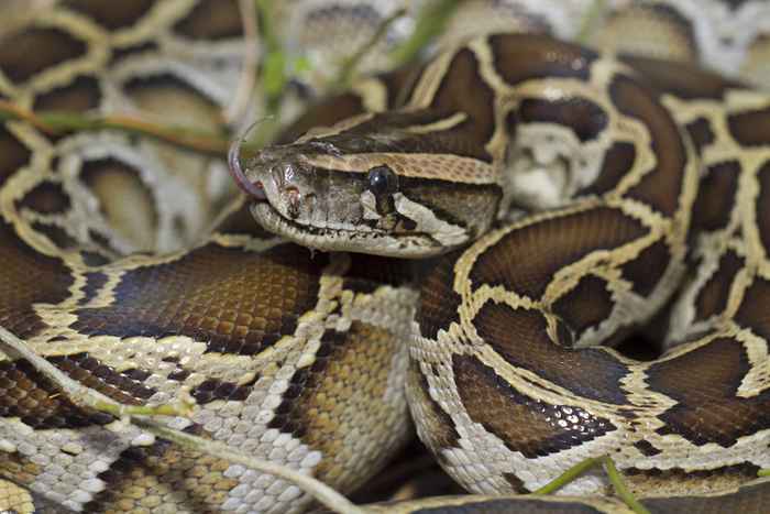
{"label": "entire coiled python with brown blotches edged in cream", "polygon": [[[173,428],[341,491],[405,444],[410,411],[476,494],[383,512],[626,512],[601,472],[520,495],[606,455],[652,512],[767,512],[770,97],[690,62],[761,84],[770,8],[708,2],[744,29],[717,37],[697,2],[609,3],[600,54],[542,34],[574,36],[588,2],[465,2],[460,32],[496,9],[492,31],[538,34],[448,40],[284,144],[234,146],[234,201],[215,155],[6,121],[0,325],[123,404],[187,395]],[[361,28],[382,4],[295,7]],[[244,67],[234,1],[69,0],[2,31],[0,99],[35,111],[215,130]],[[641,326],[661,356],[609,348]],[[0,357],[2,510],[310,503]]]}

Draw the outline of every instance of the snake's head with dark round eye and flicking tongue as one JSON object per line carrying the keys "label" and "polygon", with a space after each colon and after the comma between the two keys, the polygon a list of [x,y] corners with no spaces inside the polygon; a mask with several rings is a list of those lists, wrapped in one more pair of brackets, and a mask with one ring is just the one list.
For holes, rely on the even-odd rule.
{"label": "snake's head with dark round eye and flicking tongue", "polygon": [[437,175],[452,160],[400,153],[403,136],[308,134],[263,149],[243,168],[231,151],[231,172],[255,200],[257,222],[306,247],[424,258],[468,243],[494,217],[495,203],[462,184],[421,177],[420,169]]}

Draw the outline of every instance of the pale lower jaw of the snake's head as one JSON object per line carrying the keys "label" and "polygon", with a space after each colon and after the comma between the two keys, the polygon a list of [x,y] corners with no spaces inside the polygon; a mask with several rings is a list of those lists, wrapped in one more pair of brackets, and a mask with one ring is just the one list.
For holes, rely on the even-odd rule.
{"label": "pale lower jaw of the snake's head", "polygon": [[252,204],[251,212],[264,229],[302,247],[324,252],[370,253],[406,259],[421,259],[443,252],[442,247],[427,233],[398,234],[376,229],[355,230],[304,225],[284,217],[268,201]]}

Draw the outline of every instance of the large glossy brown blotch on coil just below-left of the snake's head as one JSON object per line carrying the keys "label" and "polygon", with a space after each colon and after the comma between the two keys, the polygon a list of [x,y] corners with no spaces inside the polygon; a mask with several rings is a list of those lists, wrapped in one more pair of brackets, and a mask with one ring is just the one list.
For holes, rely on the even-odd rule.
{"label": "large glossy brown blotch on coil just below-left of the snake's head", "polygon": [[255,354],[282,336],[318,298],[323,254],[289,244],[261,254],[210,243],[180,259],[127,271],[113,305],[76,311],[90,336],[169,335],[206,341],[208,351]]}

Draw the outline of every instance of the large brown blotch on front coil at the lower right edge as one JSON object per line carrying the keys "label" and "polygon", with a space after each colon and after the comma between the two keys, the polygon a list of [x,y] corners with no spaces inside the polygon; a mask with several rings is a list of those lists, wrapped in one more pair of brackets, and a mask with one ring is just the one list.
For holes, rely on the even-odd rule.
{"label": "large brown blotch on front coil at the lower right edge", "polygon": [[738,438],[767,427],[770,392],[750,398],[736,396],[749,369],[743,345],[726,337],[653,364],[647,371],[648,384],[678,402],[659,416],[666,426],[657,433],[679,434],[697,446],[714,442],[729,448]]}

